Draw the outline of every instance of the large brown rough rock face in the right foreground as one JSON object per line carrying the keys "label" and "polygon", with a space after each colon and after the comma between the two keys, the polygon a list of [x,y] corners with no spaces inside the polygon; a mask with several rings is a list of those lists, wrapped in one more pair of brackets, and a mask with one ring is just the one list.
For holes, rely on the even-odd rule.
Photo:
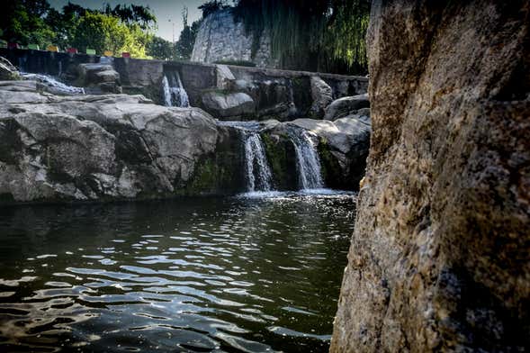
{"label": "large brown rough rock face in the right foreground", "polygon": [[530,348],[530,3],[373,2],[332,352]]}

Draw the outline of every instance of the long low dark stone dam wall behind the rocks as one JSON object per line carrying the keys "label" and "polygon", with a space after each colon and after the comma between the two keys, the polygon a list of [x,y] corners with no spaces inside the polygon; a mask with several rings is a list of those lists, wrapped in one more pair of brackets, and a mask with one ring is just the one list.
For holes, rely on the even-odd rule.
{"label": "long low dark stone dam wall behind the rocks", "polygon": [[[43,50],[0,49],[0,56],[15,64],[20,63],[19,66],[28,72],[59,76],[62,81],[74,86],[80,82],[79,65],[99,63],[101,60],[91,55],[72,55]],[[322,118],[324,106],[315,106],[314,101],[319,101],[319,92],[315,92],[315,86],[311,85],[311,80],[315,81],[317,77],[320,86],[325,88],[324,91],[328,91],[329,96],[321,100],[324,103],[346,95],[364,94],[368,87],[367,77],[190,61],[113,58],[112,67],[120,75],[119,81],[123,93],[145,95],[157,104],[164,102],[162,96],[164,74],[177,71],[182,78],[190,103],[201,107],[215,118],[225,120],[289,121],[305,117]],[[225,99],[227,96],[230,98],[232,94],[237,97],[241,94],[247,95],[245,102],[252,99],[253,103],[247,104],[243,110],[235,107],[236,109],[230,108],[219,114],[218,109],[212,109],[203,102],[204,95],[218,95],[218,98]],[[245,114],[241,114],[242,111]]]}

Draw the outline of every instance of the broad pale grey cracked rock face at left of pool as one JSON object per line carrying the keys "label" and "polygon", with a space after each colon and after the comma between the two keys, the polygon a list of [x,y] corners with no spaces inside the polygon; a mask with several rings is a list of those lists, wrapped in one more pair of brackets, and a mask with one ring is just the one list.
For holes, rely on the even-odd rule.
{"label": "broad pale grey cracked rock face at left of pool", "polygon": [[0,203],[198,194],[218,131],[200,109],[141,95],[58,96],[0,82]]}

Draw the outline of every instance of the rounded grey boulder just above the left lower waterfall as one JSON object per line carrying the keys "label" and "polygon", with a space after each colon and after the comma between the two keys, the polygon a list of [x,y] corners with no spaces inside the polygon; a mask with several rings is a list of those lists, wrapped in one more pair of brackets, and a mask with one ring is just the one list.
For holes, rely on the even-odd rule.
{"label": "rounded grey boulder just above the left lower waterfall", "polygon": [[238,120],[256,112],[254,100],[245,93],[207,92],[202,95],[202,105],[221,120]]}

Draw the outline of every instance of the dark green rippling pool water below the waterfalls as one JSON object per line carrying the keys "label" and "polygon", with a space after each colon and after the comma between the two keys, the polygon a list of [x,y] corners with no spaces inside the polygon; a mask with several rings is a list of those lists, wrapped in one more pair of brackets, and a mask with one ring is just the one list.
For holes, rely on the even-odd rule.
{"label": "dark green rippling pool water below the waterfalls", "polygon": [[352,195],[0,208],[0,351],[324,352]]}

